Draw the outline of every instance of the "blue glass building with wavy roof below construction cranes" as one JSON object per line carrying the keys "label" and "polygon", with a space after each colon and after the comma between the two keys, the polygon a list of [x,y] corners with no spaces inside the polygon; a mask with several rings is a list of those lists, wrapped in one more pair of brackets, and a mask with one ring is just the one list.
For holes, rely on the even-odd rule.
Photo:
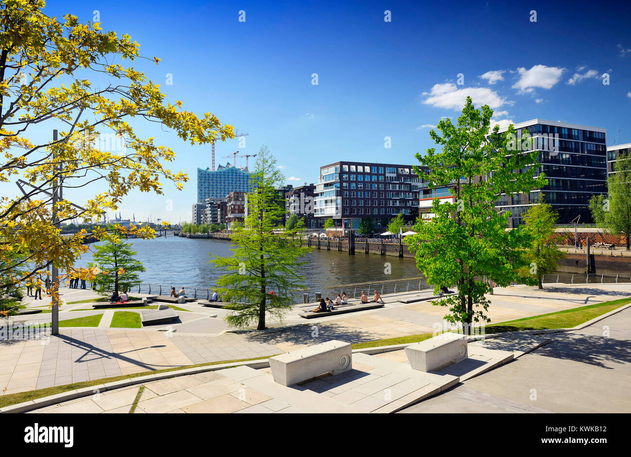
{"label": "blue glass building with wavy roof below construction cranes", "polygon": [[230,163],[216,170],[198,168],[198,202],[225,199],[230,192],[250,192],[251,175],[245,167],[237,168]]}

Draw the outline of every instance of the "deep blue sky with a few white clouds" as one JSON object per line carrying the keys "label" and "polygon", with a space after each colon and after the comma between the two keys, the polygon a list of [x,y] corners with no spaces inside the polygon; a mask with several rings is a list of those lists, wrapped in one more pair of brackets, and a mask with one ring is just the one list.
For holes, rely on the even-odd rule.
{"label": "deep blue sky with a few white clouds", "polygon": [[[618,144],[631,142],[627,2],[110,0],[45,9],[82,21],[94,10],[104,30],[127,33],[141,54],[162,59],[134,66],[162,84],[169,101],[249,134],[245,148],[237,139],[216,144],[216,164],[266,144],[293,185],[315,182],[319,166],[339,159],[414,163],[415,153],[433,146],[430,126],[457,117],[468,94],[476,106],[490,104],[500,124],[563,120],[605,127],[608,144],[618,129]],[[210,166],[210,146],[191,146],[155,124],[137,128],[173,148],[172,168],[191,180],[182,192],[167,184],[164,197],[130,194],[123,216],[189,220],[196,170]]]}

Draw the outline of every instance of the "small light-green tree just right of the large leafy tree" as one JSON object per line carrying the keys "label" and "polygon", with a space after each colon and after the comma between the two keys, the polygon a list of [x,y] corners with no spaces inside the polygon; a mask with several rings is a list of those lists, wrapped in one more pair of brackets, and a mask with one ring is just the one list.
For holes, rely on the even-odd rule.
{"label": "small light-green tree just right of the large leafy tree", "polygon": [[532,206],[526,214],[526,231],[530,234],[531,245],[524,254],[524,265],[519,270],[521,275],[531,275],[537,285],[543,289],[543,275],[557,271],[558,260],[565,258],[555,243],[555,224],[558,214],[540,195],[538,204]]}

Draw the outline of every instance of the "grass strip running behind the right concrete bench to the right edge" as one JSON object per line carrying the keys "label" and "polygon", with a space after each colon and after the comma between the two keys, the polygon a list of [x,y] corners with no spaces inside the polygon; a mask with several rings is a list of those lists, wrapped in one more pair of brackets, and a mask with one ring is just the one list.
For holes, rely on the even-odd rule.
{"label": "grass strip running behind the right concrete bench to the right edge", "polygon": [[[504,333],[516,330],[548,330],[552,328],[571,328],[585,323],[593,318],[601,316],[609,311],[620,308],[631,303],[631,298],[605,301],[603,303],[589,304],[579,308],[565,309],[555,313],[542,314],[538,316],[526,317],[512,321],[500,322],[487,325],[485,333]],[[365,347],[389,346],[392,344],[418,343],[419,341],[432,338],[433,333],[421,333],[420,335],[406,335],[398,338],[387,338],[386,340],[367,341],[365,343],[353,344],[353,349]]]}

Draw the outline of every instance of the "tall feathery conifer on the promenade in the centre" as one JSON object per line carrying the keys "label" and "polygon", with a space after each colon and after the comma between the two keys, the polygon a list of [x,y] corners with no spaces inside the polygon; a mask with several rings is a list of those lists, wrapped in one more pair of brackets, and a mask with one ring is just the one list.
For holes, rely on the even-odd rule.
{"label": "tall feathery conifer on the promenade in the centre", "polygon": [[293,229],[278,226],[285,214],[285,200],[276,188],[285,182],[276,159],[262,146],[257,153],[256,171],[251,176],[248,212],[243,225],[232,230],[232,257],[211,254],[211,262],[227,273],[217,280],[217,290],[231,313],[226,321],[245,328],[257,322],[266,327],[266,315],[279,321],[292,309],[292,290],[304,287],[298,274],[300,257],[307,252],[293,237],[302,233],[298,221]]}

